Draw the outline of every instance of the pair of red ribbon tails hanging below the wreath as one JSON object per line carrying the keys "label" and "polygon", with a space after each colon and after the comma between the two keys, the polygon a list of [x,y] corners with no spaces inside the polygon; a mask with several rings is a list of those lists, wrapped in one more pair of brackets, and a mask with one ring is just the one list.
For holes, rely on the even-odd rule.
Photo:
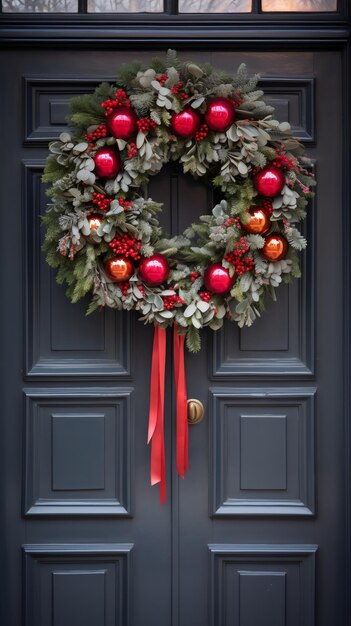
{"label": "pair of red ribbon tails hanging below the wreath", "polygon": [[[176,467],[184,478],[188,469],[188,409],[184,364],[185,336],[174,326],[174,377],[176,387]],[[166,331],[155,326],[152,349],[150,410],[147,442],[151,441],[151,485],[160,484],[160,503],[166,501],[166,460],[164,442]]]}

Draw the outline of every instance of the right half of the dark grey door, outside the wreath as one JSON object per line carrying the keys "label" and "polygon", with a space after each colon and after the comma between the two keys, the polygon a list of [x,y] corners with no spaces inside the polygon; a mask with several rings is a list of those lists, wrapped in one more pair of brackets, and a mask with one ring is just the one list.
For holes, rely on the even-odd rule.
{"label": "right half of the dark grey door, outside the wreath", "polygon": [[[241,55],[220,56],[222,67],[229,69]],[[250,53],[251,71],[263,69],[259,56]],[[328,573],[335,559],[343,561],[342,540],[333,534],[326,542],[323,535],[327,519],[342,534],[344,510],[343,469],[332,460],[343,448],[342,327],[337,301],[327,304],[330,284],[336,291],[340,287],[335,277],[342,268],[341,212],[333,213],[332,223],[328,218],[330,206],[337,206],[341,197],[340,99],[335,95],[326,107],[322,96],[326,90],[338,94],[340,58],[293,51],[268,57],[269,75],[279,76],[278,100],[286,98],[289,81],[299,71],[302,83],[316,85],[317,116],[311,93],[304,100],[304,116],[317,120],[315,131],[310,126],[305,137],[310,135],[306,143],[319,186],[306,224],[309,247],[302,280],[285,292],[278,289],[278,302],[270,303],[252,328],[240,331],[228,323],[221,333],[208,333],[201,355],[187,360],[189,371],[196,372],[196,377],[189,376],[189,395],[207,402],[207,427],[202,422],[191,429],[190,476],[179,488],[182,626],[202,626],[208,615],[213,626],[314,624],[315,580],[318,625],[327,626],[335,621],[335,611],[342,611],[331,599],[340,579],[330,581]],[[208,372],[215,385],[207,383],[209,396],[203,382]],[[238,387],[240,379],[245,386]],[[204,476],[205,466],[209,471]],[[261,544],[267,553],[263,557]],[[275,551],[284,553],[284,548],[277,565]],[[207,573],[201,573],[209,551],[207,597]],[[315,567],[316,551],[321,556]],[[320,586],[327,581],[333,590],[325,595]],[[268,589],[272,597],[267,604]],[[198,608],[191,619],[187,609],[192,603]]]}

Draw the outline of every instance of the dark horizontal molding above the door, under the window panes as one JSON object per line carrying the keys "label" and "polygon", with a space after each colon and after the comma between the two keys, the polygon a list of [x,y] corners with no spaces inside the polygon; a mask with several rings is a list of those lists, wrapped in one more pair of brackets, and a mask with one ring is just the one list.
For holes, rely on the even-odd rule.
{"label": "dark horizontal molding above the door, under the window panes", "polygon": [[[248,48],[270,44],[333,45],[349,39],[348,0],[339,0],[338,10],[326,13],[261,13],[253,1],[253,13],[177,15],[172,0],[165,0],[162,14],[86,13],[80,1],[80,14],[0,13],[0,47],[26,47],[42,44],[63,48],[86,47],[90,42],[102,48],[125,49],[143,43],[153,48],[199,48],[201,44]],[[0,9],[1,11],[1,9]]]}

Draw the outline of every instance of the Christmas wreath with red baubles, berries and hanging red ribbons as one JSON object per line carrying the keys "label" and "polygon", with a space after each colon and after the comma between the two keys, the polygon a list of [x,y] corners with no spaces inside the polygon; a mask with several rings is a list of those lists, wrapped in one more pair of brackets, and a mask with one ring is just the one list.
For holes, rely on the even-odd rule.
{"label": "Christmas wreath with red baubles, berries and hanging red ribbons", "polygon": [[[155,325],[152,380],[164,368],[161,331],[174,325],[183,414],[184,340],[195,352],[205,326],[218,330],[225,318],[250,326],[276,287],[300,276],[306,240],[298,224],[313,174],[257,82],[244,65],[230,76],[180,62],[173,50],[148,67],[124,66],[116,84],[72,99],[72,131],[50,144],[43,175],[51,198],[44,249],[57,281],[68,284],[72,302],[92,292],[88,313],[136,310]],[[172,238],[158,221],[162,205],[144,193],[169,161],[220,197],[211,215]],[[154,384],[149,438],[158,446],[153,482],[162,487],[162,384]],[[187,454],[182,429],[180,474]]]}

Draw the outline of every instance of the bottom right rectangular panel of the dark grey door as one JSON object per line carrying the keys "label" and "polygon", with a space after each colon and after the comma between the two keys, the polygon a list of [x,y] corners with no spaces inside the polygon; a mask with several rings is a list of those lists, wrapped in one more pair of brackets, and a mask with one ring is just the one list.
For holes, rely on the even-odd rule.
{"label": "bottom right rectangular panel of the dark grey door", "polygon": [[316,546],[210,545],[211,626],[315,622]]}

